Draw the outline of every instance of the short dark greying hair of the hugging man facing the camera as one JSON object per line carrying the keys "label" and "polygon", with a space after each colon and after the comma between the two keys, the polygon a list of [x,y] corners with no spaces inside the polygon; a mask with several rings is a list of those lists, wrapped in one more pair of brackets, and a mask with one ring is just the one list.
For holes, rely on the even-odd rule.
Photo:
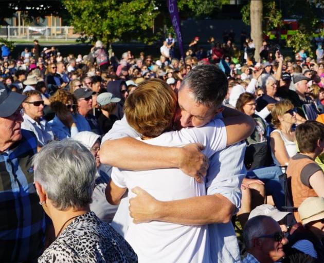
{"label": "short dark greying hair of the hugging man facing the camera", "polygon": [[181,83],[180,89],[188,88],[195,101],[207,107],[222,104],[228,89],[224,72],[215,65],[199,65],[189,71]]}

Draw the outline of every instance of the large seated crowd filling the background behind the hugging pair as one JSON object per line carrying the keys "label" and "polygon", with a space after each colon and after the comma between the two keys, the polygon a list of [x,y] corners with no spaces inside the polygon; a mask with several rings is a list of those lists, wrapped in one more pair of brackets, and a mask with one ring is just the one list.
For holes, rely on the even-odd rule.
{"label": "large seated crowd filling the background behind the hugging pair", "polygon": [[[79,200],[80,203],[64,204],[51,195],[51,205],[44,209],[45,212],[53,215],[56,210],[78,206],[79,212],[86,213],[86,216],[81,212],[80,215],[92,218],[93,224],[89,228],[99,229],[106,238],[118,239],[116,242],[123,248],[124,260],[137,260],[129,244],[116,237],[118,234],[113,230],[113,234],[107,234],[102,225],[102,221],[112,222],[118,202],[111,201],[109,204],[106,201],[105,189],[111,181],[112,167],[100,163],[101,140],[116,121],[123,119],[124,110],[131,103],[127,98],[138,85],[142,87],[146,81],[158,79],[177,94],[191,70],[200,65],[214,64],[228,82],[222,105],[253,118],[255,125],[251,135],[245,139],[244,165],[247,173],[240,183],[242,197],[240,208],[235,213],[244,228],[245,245],[241,244],[241,249],[247,253],[243,262],[275,262],[285,254],[285,262],[324,262],[321,243],[324,236],[322,45],[317,43],[314,55],[308,55],[301,49],[294,58],[284,58],[277,46],[269,47],[264,41],[259,50],[260,60],[256,61],[253,40],[245,37],[237,45],[234,38],[227,34],[224,43],[220,43],[210,37],[210,47],[206,50],[199,44],[200,37],[196,36],[183,59],[175,57],[178,52],[172,34],[160,47],[158,58],[144,51],[135,57],[130,50],[117,58],[114,52],[107,52],[101,41],[97,41],[86,55],[76,53],[62,57],[56,47],[41,48],[38,40],[34,40],[31,50],[25,48],[19,57],[12,58],[9,48],[3,45],[0,82],[8,92],[25,96],[20,109],[24,112],[21,128],[37,137],[35,147],[40,153],[33,162],[38,164],[39,171],[51,174],[42,162],[55,163],[48,156],[50,153],[63,155],[60,152],[62,149],[70,151],[70,155],[74,151],[88,149],[95,158],[94,163],[86,163],[87,156],[78,155],[80,161],[88,165],[87,168],[82,166],[80,171],[88,169],[88,173],[94,175],[94,179],[83,175],[85,184],[94,187],[94,190],[88,190],[91,196],[79,196],[85,198],[83,203]],[[66,138],[73,138],[81,144],[64,140]],[[53,144],[48,143],[52,141],[60,141],[61,144],[58,142],[58,146],[50,146]],[[46,145],[47,154],[41,151]],[[68,160],[68,157],[65,158]],[[55,163],[57,167],[60,165],[64,163]],[[56,173],[64,173],[54,170],[54,165],[47,166]],[[42,179],[41,174],[38,172],[34,176],[41,182],[35,187],[42,203],[45,191],[52,191],[48,180],[53,179]],[[42,185],[49,188],[44,190]],[[290,186],[289,194],[287,185]],[[63,186],[58,183],[55,187]],[[75,184],[71,187],[77,189],[81,186]],[[287,211],[287,199],[295,208]],[[79,214],[71,212],[69,216],[77,217]],[[291,214],[293,219],[287,220],[286,217]],[[58,220],[49,217],[53,222]],[[73,223],[75,228],[82,230],[83,219],[78,220]],[[55,234],[59,236],[60,233]],[[87,235],[84,233],[84,238]],[[262,238],[271,238],[272,242],[257,240]],[[55,246],[51,249],[58,251],[60,243],[56,242]],[[139,253],[137,248],[133,249]],[[42,262],[47,262],[46,257],[51,258],[52,255],[43,254]]]}

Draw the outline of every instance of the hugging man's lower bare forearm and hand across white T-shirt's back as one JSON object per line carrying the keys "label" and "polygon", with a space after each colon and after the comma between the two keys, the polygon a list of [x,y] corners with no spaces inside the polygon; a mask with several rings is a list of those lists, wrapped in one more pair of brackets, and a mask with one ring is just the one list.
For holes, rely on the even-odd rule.
{"label": "hugging man's lower bare forearm and hand across white T-shirt's back", "polygon": [[236,207],[220,194],[174,201],[158,201],[145,190],[135,187],[130,198],[130,215],[134,223],[152,220],[185,225],[227,223]]}

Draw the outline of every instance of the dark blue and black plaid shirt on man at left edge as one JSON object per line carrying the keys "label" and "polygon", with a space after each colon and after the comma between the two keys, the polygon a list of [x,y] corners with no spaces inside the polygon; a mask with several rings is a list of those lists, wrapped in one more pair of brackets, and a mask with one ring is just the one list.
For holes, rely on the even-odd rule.
{"label": "dark blue and black plaid shirt on man at left edge", "polygon": [[31,158],[37,138],[22,139],[0,154],[0,261],[37,259],[45,239],[44,211],[33,186]]}

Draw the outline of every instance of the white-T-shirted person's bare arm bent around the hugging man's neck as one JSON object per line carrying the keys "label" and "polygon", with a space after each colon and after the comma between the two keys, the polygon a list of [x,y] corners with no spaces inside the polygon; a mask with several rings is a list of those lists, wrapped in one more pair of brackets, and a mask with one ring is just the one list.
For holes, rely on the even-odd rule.
{"label": "white-T-shirted person's bare arm bent around the hugging man's neck", "polygon": [[256,122],[250,116],[229,107],[225,107],[222,113],[227,132],[226,145],[245,140],[253,133]]}

